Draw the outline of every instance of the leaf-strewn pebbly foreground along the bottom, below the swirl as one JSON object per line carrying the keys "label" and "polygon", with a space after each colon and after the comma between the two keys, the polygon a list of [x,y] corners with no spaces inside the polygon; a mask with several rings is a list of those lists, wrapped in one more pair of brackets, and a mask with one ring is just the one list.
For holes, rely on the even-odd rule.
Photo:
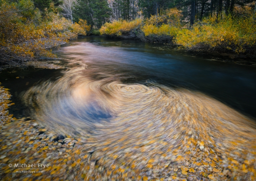
{"label": "leaf-strewn pebbly foreground along the bottom, below the swirl", "polygon": [[[5,124],[0,132],[0,176],[2,180],[255,180],[255,143],[247,140],[249,135],[239,142],[220,142],[217,137],[202,141],[193,131],[184,131],[171,145],[147,140],[138,148],[115,148],[109,142],[98,145],[95,138],[59,135],[36,120],[22,118]],[[115,144],[123,142],[125,147],[124,141]],[[143,156],[162,146],[168,151]],[[134,155],[136,149],[141,154]],[[40,167],[43,172],[22,173],[17,163],[48,166]]]}

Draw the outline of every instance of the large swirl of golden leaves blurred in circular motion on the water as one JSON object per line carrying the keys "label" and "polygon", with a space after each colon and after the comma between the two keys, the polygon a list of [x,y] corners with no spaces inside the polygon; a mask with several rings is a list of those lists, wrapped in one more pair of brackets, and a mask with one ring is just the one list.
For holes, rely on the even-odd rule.
{"label": "large swirl of golden leaves blurred in circular motion on the water", "polygon": [[144,150],[148,157],[166,151],[165,144],[178,147],[189,138],[206,145],[255,141],[255,124],[213,98],[157,83],[123,83],[120,77],[125,76],[76,68],[32,87],[24,100],[49,129],[93,139],[99,149],[108,145],[141,152],[143,145],[163,143]]}

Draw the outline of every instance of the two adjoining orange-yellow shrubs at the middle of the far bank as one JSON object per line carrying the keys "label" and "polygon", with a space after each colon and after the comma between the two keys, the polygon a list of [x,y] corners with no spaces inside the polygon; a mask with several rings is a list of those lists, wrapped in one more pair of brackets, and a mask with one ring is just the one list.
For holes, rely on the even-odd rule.
{"label": "two adjoining orange-yellow shrubs at the middle of the far bank", "polygon": [[170,42],[181,29],[181,11],[166,10],[161,16],[151,16],[142,21],[135,19],[131,22],[119,20],[105,23],[100,33],[110,37],[140,38],[145,42]]}

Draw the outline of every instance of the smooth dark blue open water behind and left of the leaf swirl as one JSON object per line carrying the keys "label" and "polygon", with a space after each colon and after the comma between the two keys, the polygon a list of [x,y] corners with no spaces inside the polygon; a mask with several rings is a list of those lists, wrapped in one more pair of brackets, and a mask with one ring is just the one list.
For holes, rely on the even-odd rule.
{"label": "smooth dark blue open water behind and left of the leaf swirl", "polygon": [[[148,83],[157,83],[174,89],[198,91],[223,102],[236,111],[256,118],[255,67],[214,61],[223,58],[194,55],[168,45],[105,37],[83,37],[72,40],[68,45],[56,50],[56,53],[64,63],[72,62],[70,67],[86,66],[90,74],[87,78],[91,80],[102,80],[107,77],[112,78],[111,81],[118,79],[125,84],[137,83],[147,86]],[[225,60],[229,59],[225,58]],[[63,69],[15,69],[17,72],[8,73],[11,70],[1,72],[0,82],[9,88],[13,95],[12,99],[16,105],[12,106],[10,113],[14,113],[15,116],[26,114],[22,106],[24,101],[20,98],[22,92],[46,80],[55,81],[65,74],[62,72]],[[17,76],[20,78],[16,79]],[[88,76],[86,72],[85,76]],[[102,105],[102,103],[97,101],[96,96],[93,101],[88,102],[87,108],[81,109],[80,112],[101,107],[99,104]],[[107,108],[99,109],[101,111],[96,111],[96,114],[95,111],[89,114],[97,119],[110,116]],[[65,110],[69,110],[72,114],[70,108]]]}

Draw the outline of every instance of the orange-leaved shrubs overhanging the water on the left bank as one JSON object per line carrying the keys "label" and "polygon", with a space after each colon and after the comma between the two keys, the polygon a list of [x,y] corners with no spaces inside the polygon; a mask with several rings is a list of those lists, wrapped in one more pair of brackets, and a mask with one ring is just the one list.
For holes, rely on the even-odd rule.
{"label": "orange-leaved shrubs overhanging the water on the left bank", "polygon": [[46,10],[42,18],[30,0],[0,0],[0,63],[17,64],[35,56],[54,56],[51,47],[78,34],[86,35],[87,30],[86,21],[72,24],[54,11]]}

